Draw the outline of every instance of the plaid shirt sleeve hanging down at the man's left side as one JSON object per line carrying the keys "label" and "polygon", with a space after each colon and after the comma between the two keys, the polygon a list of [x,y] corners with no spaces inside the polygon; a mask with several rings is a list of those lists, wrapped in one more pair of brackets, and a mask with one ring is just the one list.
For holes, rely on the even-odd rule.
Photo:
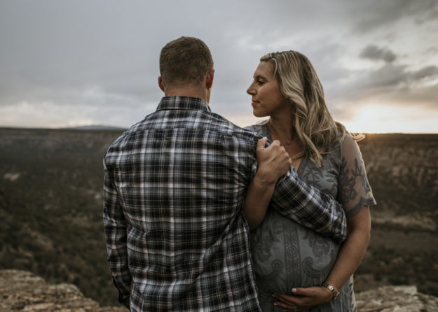
{"label": "plaid shirt sleeve hanging down at the man's left side", "polygon": [[129,309],[131,275],[128,269],[126,222],[114,181],[104,161],[104,232],[107,259],[118,290],[118,302]]}

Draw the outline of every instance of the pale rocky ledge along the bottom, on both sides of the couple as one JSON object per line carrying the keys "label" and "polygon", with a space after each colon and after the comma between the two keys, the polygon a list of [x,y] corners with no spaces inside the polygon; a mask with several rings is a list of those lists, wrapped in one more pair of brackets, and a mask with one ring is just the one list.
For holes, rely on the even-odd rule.
{"label": "pale rocky ledge along the bottom, on both sides of the couple", "polygon": [[[438,312],[438,298],[415,286],[384,286],[359,292],[360,312]],[[101,307],[71,284],[50,285],[28,271],[0,270],[0,312],[127,312],[124,307]]]}

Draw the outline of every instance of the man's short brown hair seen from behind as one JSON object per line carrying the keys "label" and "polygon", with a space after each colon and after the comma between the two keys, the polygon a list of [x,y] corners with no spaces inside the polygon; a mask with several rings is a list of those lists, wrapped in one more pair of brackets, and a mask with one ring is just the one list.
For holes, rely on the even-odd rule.
{"label": "man's short brown hair seen from behind", "polygon": [[207,45],[198,38],[177,38],[160,53],[160,75],[166,85],[198,85],[213,69]]}

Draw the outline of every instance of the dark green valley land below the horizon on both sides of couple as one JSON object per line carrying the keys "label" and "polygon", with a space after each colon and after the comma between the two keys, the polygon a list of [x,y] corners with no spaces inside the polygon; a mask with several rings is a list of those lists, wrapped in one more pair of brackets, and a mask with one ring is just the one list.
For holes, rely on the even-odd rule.
{"label": "dark green valley land below the horizon on both sides of couple", "polygon": [[[100,304],[116,304],[102,157],[120,134],[0,129],[0,269],[74,283]],[[413,284],[438,296],[438,135],[372,134],[360,146],[378,205],[357,290]]]}

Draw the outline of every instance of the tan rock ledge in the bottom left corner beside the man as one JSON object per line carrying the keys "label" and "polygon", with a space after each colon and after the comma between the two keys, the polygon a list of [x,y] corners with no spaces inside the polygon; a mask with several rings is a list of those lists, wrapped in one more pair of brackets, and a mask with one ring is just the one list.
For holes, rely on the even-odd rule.
{"label": "tan rock ledge in the bottom left corner beside the man", "polygon": [[123,306],[101,307],[75,285],[50,285],[28,271],[0,271],[0,312],[127,312]]}

